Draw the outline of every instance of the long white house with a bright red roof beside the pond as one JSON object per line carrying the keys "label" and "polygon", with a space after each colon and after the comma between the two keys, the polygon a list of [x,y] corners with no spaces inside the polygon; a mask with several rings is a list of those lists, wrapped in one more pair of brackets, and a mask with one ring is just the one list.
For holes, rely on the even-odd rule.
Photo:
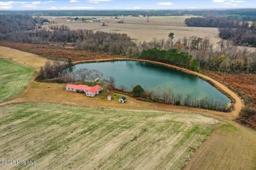
{"label": "long white house with a bright red roof beside the pond", "polygon": [[68,91],[74,91],[74,92],[82,92],[86,94],[88,97],[93,97],[95,95],[99,95],[100,91],[102,91],[102,88],[99,85],[89,87],[86,85],[76,85],[76,84],[67,84],[66,90]]}

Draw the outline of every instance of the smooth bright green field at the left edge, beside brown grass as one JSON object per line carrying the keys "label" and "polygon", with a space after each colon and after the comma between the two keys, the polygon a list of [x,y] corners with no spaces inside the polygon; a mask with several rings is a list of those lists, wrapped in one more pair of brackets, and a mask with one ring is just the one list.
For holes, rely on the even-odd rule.
{"label": "smooth bright green field at the left edge, beside brown grass", "polygon": [[33,73],[30,67],[0,59],[0,103],[19,94]]}

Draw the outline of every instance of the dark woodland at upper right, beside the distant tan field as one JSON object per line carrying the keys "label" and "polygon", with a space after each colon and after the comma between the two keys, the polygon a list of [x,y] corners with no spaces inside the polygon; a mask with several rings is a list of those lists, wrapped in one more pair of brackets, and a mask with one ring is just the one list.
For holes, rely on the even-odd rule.
{"label": "dark woodland at upper right, beside the distant tan field", "polygon": [[222,39],[234,41],[237,45],[256,47],[255,22],[239,21],[223,17],[193,17],[185,20],[189,27],[216,27]]}

